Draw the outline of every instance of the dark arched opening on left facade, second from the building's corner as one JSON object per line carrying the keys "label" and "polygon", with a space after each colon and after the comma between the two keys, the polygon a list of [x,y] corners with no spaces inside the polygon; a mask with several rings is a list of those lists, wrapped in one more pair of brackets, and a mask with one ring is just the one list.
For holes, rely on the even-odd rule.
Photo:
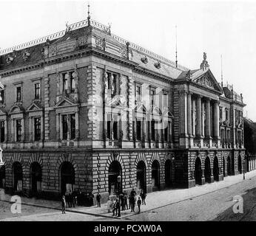
{"label": "dark arched opening on left facade, second from the building's corner", "polygon": [[31,194],[38,195],[41,192],[41,165],[38,162],[30,165],[30,184]]}

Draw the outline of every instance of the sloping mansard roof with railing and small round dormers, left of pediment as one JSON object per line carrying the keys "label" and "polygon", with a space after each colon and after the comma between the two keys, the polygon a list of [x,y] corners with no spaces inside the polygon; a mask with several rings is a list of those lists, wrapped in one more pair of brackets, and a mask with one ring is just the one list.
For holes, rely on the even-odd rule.
{"label": "sloping mansard roof with railing and small round dormers, left of pediment", "polygon": [[[90,23],[92,34],[100,39],[105,39],[110,44],[110,53],[118,52],[121,56],[122,51],[127,49],[127,40],[110,34],[109,28],[96,21]],[[70,30],[57,32],[53,35],[40,38],[36,41],[31,41],[26,44],[14,46],[9,49],[0,50],[0,69],[13,69],[18,66],[27,66],[31,63],[38,63],[44,59],[44,46],[60,44],[63,41],[74,40],[82,35],[85,35],[87,21],[81,21],[70,25]],[[118,45],[118,48],[113,49],[113,45]],[[131,57],[129,60],[138,64],[142,69],[164,75],[175,79],[187,68],[178,65],[176,68],[175,62],[168,60],[160,55],[150,52],[136,44],[129,43],[129,50]],[[146,58],[146,59],[145,59]],[[144,60],[145,59],[145,60]]]}

